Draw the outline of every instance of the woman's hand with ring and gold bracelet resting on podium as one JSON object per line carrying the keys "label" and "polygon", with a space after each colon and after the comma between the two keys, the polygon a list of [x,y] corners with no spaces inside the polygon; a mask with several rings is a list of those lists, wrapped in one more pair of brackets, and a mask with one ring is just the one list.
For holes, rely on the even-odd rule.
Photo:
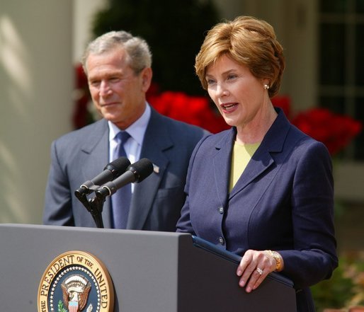
{"label": "woman's hand with ring and gold bracelet resting on podium", "polygon": [[[275,255],[280,257],[278,253]],[[280,261],[280,270],[282,270],[283,259],[281,257]],[[246,292],[251,292],[276,268],[277,261],[270,250],[247,250],[237,268],[237,275],[240,277],[239,286],[245,286]]]}

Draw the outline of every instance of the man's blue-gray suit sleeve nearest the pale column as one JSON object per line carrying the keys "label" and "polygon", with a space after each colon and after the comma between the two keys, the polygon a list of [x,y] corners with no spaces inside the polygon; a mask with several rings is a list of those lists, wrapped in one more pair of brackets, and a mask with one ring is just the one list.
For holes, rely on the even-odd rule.
{"label": "man's blue-gray suit sleeve nearest the pale column", "polygon": [[43,224],[74,226],[72,194],[67,172],[59,162],[57,141],[53,141],[51,146],[51,165],[45,189]]}

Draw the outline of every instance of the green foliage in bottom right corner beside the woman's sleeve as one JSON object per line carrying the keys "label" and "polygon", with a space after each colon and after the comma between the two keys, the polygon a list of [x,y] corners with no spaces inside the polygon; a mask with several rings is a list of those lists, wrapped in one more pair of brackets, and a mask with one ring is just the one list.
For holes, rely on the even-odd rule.
{"label": "green foliage in bottom right corner beside the woman's sleeve", "polygon": [[364,253],[346,253],[331,279],[312,287],[317,312],[364,304]]}

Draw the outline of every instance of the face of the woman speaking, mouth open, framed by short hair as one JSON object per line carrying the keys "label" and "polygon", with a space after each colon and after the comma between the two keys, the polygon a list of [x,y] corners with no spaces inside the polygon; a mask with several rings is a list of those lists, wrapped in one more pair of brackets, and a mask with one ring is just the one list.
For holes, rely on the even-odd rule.
{"label": "face of the woman speaking, mouth open, framed by short hair", "polygon": [[251,123],[259,124],[268,107],[269,96],[263,87],[268,81],[257,79],[247,67],[227,55],[207,67],[205,79],[207,92],[228,125],[239,131]]}

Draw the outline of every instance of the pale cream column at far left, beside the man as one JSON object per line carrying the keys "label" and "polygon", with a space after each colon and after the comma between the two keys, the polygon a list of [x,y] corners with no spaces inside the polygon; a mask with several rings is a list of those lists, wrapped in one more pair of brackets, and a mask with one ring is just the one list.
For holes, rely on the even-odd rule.
{"label": "pale cream column at far left, beside the man", "polygon": [[72,129],[72,0],[1,0],[0,223],[40,224],[50,143]]}

